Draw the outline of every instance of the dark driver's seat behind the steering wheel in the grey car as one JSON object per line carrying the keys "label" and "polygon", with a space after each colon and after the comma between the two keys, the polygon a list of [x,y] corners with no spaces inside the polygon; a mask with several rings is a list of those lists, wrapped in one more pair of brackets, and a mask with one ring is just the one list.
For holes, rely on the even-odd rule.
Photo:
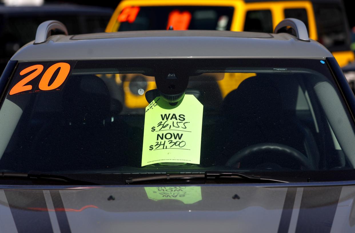
{"label": "dark driver's seat behind the steering wheel in the grey car", "polygon": [[[285,78],[282,76],[281,78]],[[258,74],[247,78],[239,87],[231,91],[222,104],[221,145],[222,156],[217,160],[223,163],[239,150],[259,143],[279,143],[300,151],[308,156],[313,166],[317,161],[309,158],[307,148],[309,142],[314,142],[310,131],[300,124],[295,114],[284,111],[282,97],[277,88],[277,77],[268,74]],[[290,90],[293,91],[293,90]],[[305,142],[308,142],[306,144]],[[250,156],[244,161],[246,167],[251,167],[271,161],[274,155]],[[314,156],[314,155],[313,155]],[[282,158],[282,156],[281,156]],[[278,165],[288,165],[288,156],[278,160]]]}

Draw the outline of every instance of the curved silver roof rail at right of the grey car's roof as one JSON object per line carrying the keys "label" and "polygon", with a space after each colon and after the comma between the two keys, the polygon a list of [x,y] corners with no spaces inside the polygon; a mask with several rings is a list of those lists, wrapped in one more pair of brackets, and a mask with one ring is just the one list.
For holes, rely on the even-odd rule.
{"label": "curved silver roof rail at right of the grey car's roof", "polygon": [[294,29],[296,33],[296,35],[294,36],[297,37],[299,40],[310,41],[306,25],[302,21],[297,20],[296,18],[285,18],[283,21],[277,24],[274,33],[286,32],[284,30],[285,27],[291,27],[292,29]]}

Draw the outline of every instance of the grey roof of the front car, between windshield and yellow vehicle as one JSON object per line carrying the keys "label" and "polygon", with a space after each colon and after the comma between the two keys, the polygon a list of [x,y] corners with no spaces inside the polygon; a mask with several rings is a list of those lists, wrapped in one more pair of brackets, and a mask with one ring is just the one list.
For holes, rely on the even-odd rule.
{"label": "grey roof of the front car, between windshield and yellow vehicle", "polygon": [[151,30],[54,35],[44,43],[28,43],[11,60],[325,57],[333,55],[323,45],[287,33]]}

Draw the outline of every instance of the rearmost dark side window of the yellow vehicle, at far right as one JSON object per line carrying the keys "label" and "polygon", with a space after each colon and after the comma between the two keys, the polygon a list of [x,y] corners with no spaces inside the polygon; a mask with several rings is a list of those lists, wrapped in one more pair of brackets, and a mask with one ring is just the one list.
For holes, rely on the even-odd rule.
{"label": "rearmost dark side window of the yellow vehicle, at far right", "polygon": [[330,51],[350,50],[345,12],[338,4],[313,4],[318,40]]}

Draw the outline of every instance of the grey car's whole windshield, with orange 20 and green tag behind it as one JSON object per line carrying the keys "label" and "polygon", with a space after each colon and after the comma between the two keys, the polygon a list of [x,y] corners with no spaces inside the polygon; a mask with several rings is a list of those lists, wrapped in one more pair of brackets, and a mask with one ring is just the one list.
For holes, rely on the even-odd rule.
{"label": "grey car's whole windshield, with orange 20 and green tag behind it", "polygon": [[21,62],[1,104],[1,171],[355,166],[353,120],[326,60]]}

